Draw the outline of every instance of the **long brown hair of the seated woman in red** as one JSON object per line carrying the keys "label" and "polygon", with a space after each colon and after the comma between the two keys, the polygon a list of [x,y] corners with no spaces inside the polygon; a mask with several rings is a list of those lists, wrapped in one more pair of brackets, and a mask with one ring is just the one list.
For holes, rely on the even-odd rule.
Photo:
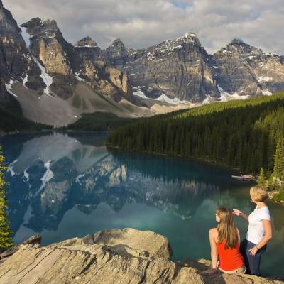
{"label": "long brown hair of the seated woman in red", "polygon": [[220,218],[217,226],[218,243],[220,244],[226,239],[225,249],[236,247],[239,243],[239,234],[231,210],[221,206],[217,208],[216,214]]}

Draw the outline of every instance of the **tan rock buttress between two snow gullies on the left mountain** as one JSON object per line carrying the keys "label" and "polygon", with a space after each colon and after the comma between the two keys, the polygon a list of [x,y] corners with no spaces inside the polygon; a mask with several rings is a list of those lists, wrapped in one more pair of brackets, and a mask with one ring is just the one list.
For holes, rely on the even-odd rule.
{"label": "tan rock buttress between two snow gullies on the left mountain", "polygon": [[31,36],[31,55],[53,77],[50,89],[63,99],[71,97],[76,84],[72,70],[76,69],[80,60],[74,47],[63,38],[54,20],[33,18],[21,26]]}

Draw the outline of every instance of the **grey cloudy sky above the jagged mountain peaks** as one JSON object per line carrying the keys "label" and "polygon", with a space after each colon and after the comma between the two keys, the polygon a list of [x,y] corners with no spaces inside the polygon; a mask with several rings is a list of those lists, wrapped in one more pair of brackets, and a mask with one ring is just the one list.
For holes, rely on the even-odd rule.
{"label": "grey cloudy sky above the jagged mountain peaks", "polygon": [[90,35],[105,48],[115,38],[144,48],[193,31],[209,53],[241,38],[284,54],[283,0],[3,0],[18,23],[58,22],[70,43]]}

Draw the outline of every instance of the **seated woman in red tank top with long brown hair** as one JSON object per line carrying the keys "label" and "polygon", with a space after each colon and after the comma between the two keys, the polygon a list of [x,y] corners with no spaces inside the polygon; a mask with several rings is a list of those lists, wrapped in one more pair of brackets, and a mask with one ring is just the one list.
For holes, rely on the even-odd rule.
{"label": "seated woman in red tank top with long brown hair", "polygon": [[245,273],[244,258],[239,252],[239,230],[234,224],[232,212],[226,207],[216,210],[217,228],[209,230],[212,268],[225,273]]}

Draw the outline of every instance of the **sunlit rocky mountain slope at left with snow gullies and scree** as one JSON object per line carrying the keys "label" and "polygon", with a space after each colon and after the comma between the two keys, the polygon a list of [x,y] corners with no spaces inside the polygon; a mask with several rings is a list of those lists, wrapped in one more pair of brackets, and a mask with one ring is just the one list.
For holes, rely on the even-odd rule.
{"label": "sunlit rocky mountain slope at left with snow gullies and scree", "polygon": [[125,73],[88,58],[84,41],[67,43],[54,20],[33,18],[19,28],[0,1],[0,45],[0,99],[16,99],[32,121],[64,126],[95,111],[151,115],[132,106]]}

